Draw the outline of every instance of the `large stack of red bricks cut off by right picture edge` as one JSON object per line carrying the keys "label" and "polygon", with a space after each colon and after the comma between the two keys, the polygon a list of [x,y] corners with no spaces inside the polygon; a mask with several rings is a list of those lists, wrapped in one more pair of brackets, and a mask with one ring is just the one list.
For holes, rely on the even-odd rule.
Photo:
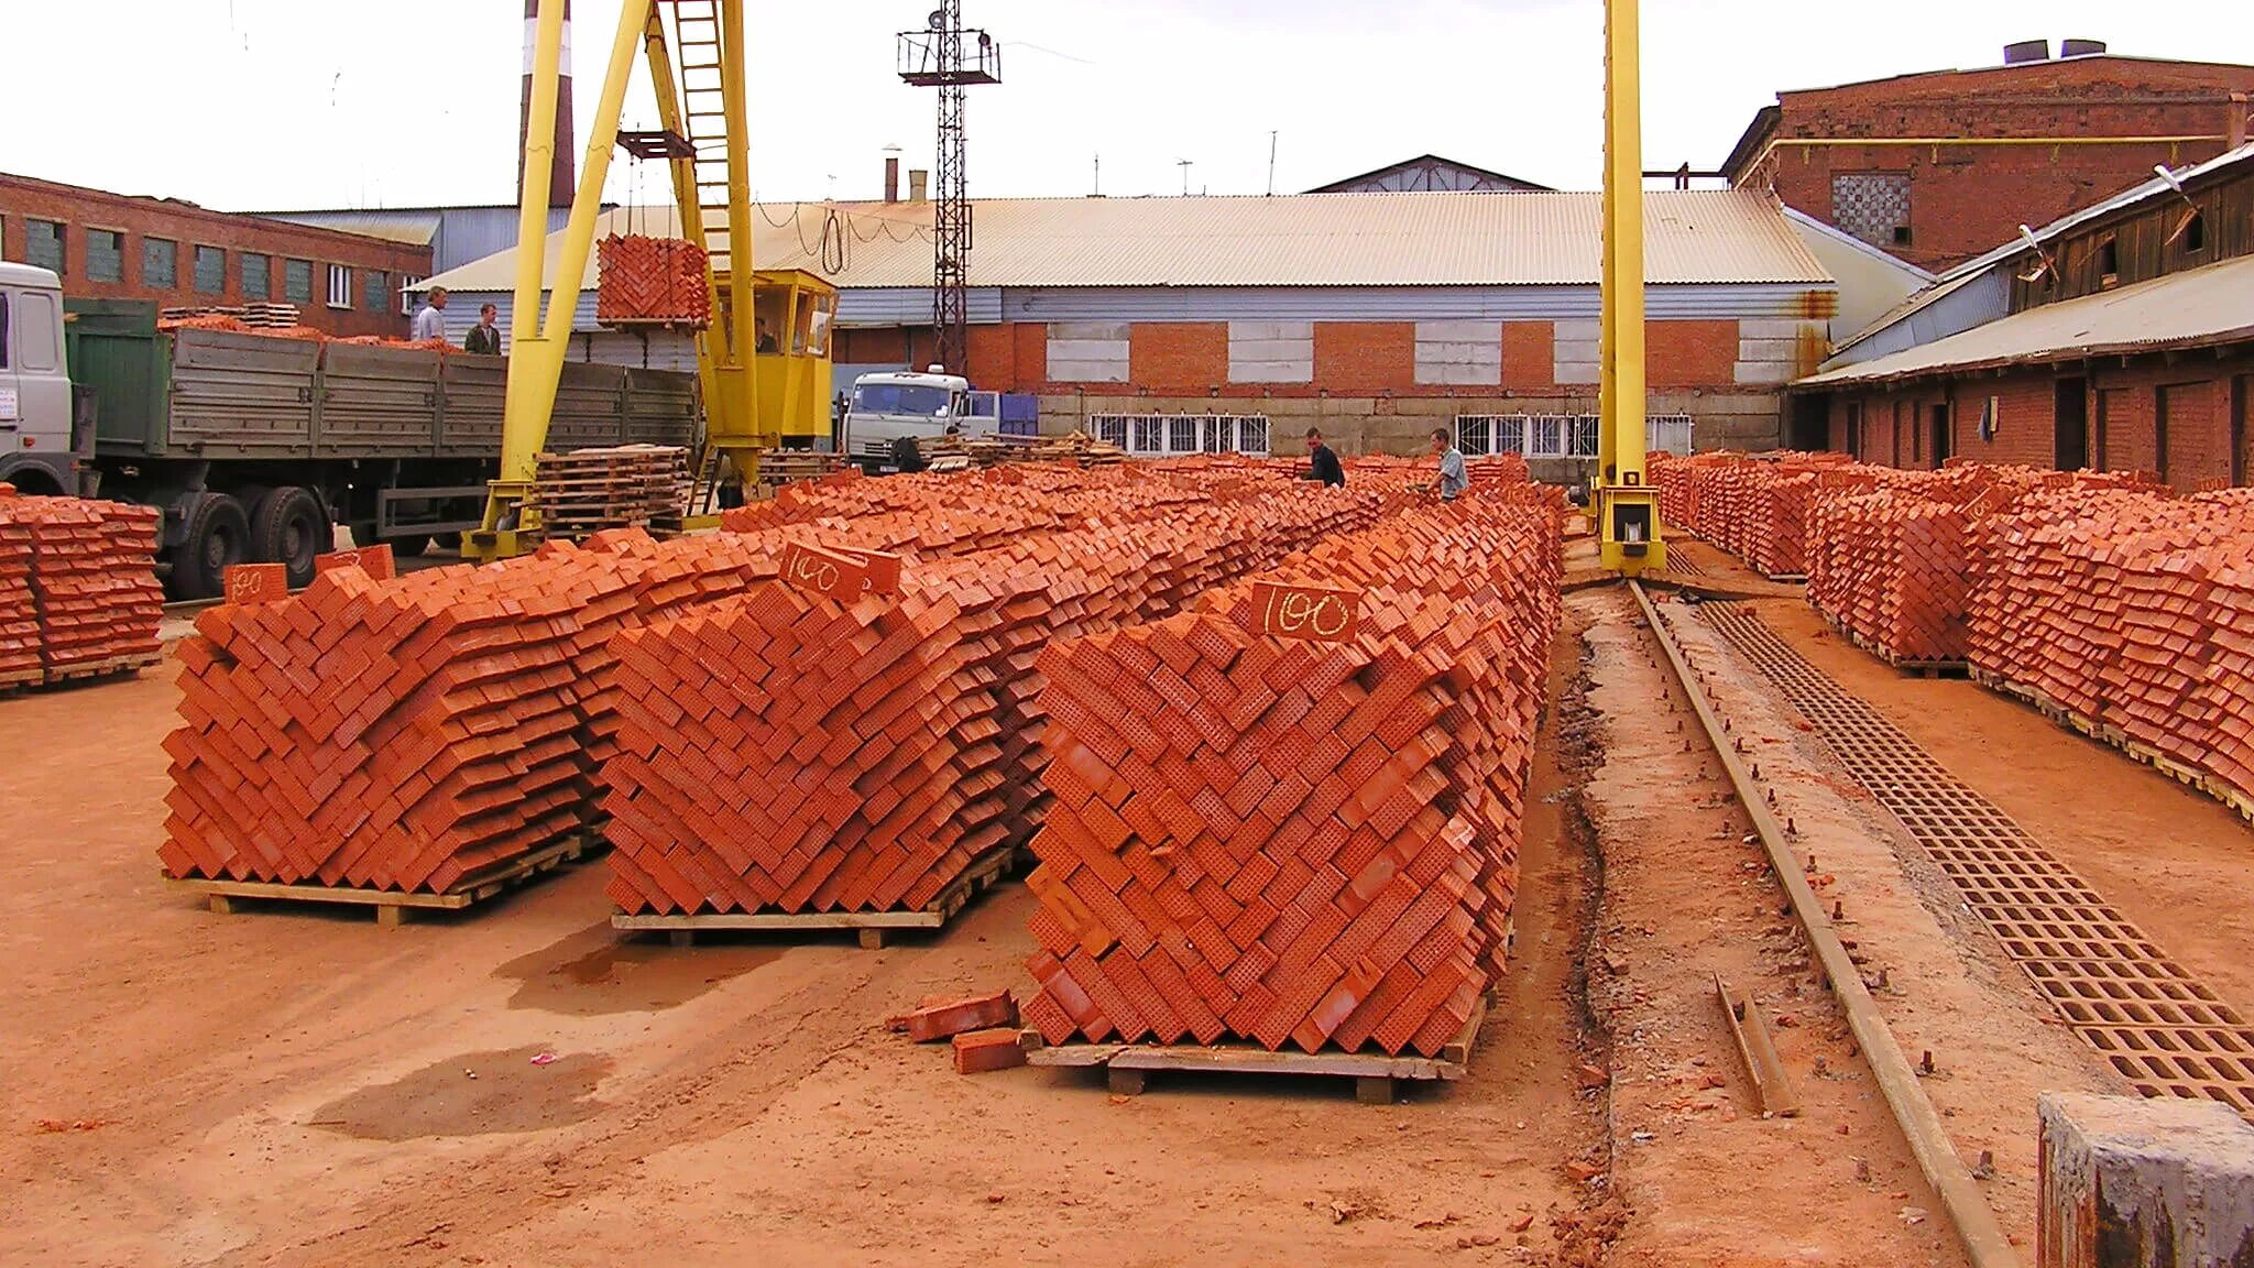
{"label": "large stack of red bricks cut off by right picture edge", "polygon": [[1981,681],[2254,819],[2254,494],[2071,485],[1981,523]]}

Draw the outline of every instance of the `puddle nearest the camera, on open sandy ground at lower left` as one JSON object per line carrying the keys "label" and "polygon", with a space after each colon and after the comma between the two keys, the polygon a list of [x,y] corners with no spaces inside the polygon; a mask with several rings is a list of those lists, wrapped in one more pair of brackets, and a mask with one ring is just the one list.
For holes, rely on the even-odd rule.
{"label": "puddle nearest the camera, on open sandy ground at lower left", "polygon": [[575,1051],[532,1065],[541,1051],[518,1047],[449,1056],[406,1078],[329,1101],[309,1126],[399,1142],[561,1128],[604,1108],[593,1097],[611,1072],[609,1056]]}

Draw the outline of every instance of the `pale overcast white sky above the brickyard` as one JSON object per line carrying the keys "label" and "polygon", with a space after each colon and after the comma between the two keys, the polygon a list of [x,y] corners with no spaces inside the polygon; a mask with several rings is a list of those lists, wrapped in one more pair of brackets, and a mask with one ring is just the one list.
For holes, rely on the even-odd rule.
{"label": "pale overcast white sky above the brickyard", "polygon": [[[893,36],[929,0],[751,0],[762,199],[877,196],[929,167]],[[582,144],[615,0],[575,0]],[[1837,25],[1814,25],[1839,14]],[[1853,18],[1848,18],[1848,14]],[[1416,153],[1596,187],[1600,0],[965,0],[980,196],[1294,192]],[[1990,65],[2015,38],[2254,61],[2243,0],[1645,0],[1645,167],[1715,167],[1781,88]],[[521,0],[0,0],[0,171],[225,210],[514,201]],[[647,83],[627,124],[654,126]],[[609,194],[656,201],[620,156]]]}

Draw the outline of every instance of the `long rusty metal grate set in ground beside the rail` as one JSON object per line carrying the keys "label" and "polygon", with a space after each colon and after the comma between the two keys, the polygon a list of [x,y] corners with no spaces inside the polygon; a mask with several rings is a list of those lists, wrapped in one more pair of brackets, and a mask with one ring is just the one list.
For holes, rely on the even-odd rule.
{"label": "long rusty metal grate set in ground beside the rail", "polygon": [[2137,1092],[2207,1097],[2254,1117],[2254,1027],[1760,616],[1720,602],[1702,611],[1909,828],[2035,990]]}

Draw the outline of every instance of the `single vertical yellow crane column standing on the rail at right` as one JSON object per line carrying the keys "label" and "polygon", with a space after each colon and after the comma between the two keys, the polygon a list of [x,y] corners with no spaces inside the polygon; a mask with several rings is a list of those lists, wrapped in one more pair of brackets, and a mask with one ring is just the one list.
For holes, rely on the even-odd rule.
{"label": "single vertical yellow crane column standing on the rail at right", "polygon": [[1659,490],[1645,481],[1643,93],[1636,0],[1605,0],[1605,280],[1598,442],[1589,510],[1605,569],[1668,566]]}

